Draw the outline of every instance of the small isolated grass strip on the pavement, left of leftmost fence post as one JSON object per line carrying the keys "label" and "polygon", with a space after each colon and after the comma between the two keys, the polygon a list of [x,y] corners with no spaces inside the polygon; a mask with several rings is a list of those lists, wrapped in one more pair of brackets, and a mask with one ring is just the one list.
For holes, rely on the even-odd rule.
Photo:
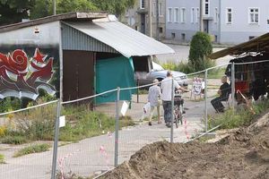
{"label": "small isolated grass strip on the pavement, left of leftmost fence post", "polygon": [[25,156],[32,153],[40,153],[40,152],[48,151],[50,147],[51,146],[47,143],[31,145],[29,147],[26,147],[17,151],[13,155],[13,158],[18,158],[18,157]]}

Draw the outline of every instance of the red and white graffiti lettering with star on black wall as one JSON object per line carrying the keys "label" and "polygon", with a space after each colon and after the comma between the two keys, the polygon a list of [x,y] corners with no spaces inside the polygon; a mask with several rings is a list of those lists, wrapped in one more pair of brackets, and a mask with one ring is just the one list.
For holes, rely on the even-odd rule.
{"label": "red and white graffiti lettering with star on black wall", "polygon": [[0,98],[36,99],[39,89],[55,94],[55,88],[48,83],[53,75],[53,58],[47,56],[39,48],[30,58],[22,49],[7,55],[0,53]]}

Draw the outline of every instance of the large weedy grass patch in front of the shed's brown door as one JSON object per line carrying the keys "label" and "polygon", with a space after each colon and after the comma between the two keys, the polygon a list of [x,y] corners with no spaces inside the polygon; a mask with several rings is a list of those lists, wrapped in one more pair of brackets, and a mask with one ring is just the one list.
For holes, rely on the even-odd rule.
{"label": "large weedy grass patch in front of the shed's brown door", "polygon": [[[116,120],[100,112],[92,112],[85,107],[65,107],[66,125],[60,129],[60,141],[80,141],[103,134],[114,132]],[[120,128],[134,125],[131,117],[119,120]]]}

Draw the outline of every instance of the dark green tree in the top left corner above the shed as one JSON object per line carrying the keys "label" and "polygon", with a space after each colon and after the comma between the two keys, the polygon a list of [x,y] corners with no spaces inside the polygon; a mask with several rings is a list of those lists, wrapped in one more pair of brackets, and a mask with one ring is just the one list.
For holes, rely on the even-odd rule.
{"label": "dark green tree in the top left corner above the shed", "polygon": [[16,23],[29,18],[35,0],[0,0],[0,25]]}

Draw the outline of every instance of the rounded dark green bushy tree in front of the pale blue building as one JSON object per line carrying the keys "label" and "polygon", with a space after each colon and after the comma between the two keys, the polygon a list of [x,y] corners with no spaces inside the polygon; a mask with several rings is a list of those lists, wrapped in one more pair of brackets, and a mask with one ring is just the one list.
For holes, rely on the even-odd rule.
{"label": "rounded dark green bushy tree in front of the pale blue building", "polygon": [[206,56],[212,54],[211,37],[204,32],[197,32],[190,43],[188,63],[195,72],[211,67],[213,63]]}

